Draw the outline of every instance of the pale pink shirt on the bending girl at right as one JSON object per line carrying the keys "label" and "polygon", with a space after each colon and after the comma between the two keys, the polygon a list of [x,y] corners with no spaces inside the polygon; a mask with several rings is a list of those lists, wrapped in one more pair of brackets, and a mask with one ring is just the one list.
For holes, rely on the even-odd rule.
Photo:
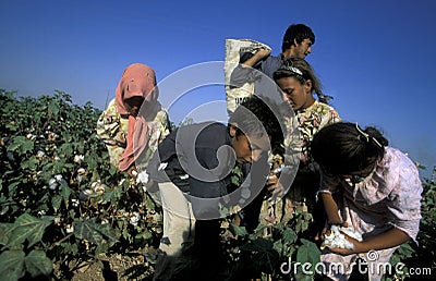
{"label": "pale pink shirt on the bending girl at right", "polygon": [[415,241],[423,188],[415,164],[403,152],[386,147],[375,171],[358,184],[340,176],[322,174],[320,192],[340,191],[343,192],[343,201],[338,207],[342,219],[364,239],[393,225]]}

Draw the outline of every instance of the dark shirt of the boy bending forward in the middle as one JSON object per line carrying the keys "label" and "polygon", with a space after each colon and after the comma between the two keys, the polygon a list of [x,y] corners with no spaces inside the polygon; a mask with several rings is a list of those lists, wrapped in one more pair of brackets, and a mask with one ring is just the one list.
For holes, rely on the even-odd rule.
{"label": "dark shirt of the boy bending forward in the middle", "polygon": [[169,134],[158,146],[147,172],[152,180],[171,181],[192,196],[216,198],[227,194],[234,163],[228,127],[205,122]]}

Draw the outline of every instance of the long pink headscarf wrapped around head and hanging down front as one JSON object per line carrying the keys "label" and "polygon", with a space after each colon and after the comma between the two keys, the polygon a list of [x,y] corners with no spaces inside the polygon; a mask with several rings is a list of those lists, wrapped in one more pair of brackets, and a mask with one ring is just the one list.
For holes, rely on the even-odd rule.
{"label": "long pink headscarf wrapped around head and hanging down front", "polygon": [[[119,169],[128,170],[144,150],[148,143],[147,122],[145,117],[157,102],[159,91],[156,86],[155,71],[142,63],[129,65],[116,90],[116,105],[121,115],[129,115],[128,144],[120,158]],[[132,115],[125,107],[125,100],[143,97],[144,102],[137,117]]]}

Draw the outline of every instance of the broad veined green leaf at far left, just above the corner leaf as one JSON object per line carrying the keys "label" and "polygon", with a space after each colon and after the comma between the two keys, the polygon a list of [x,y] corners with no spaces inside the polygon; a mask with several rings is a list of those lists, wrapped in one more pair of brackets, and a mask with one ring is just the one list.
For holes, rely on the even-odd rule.
{"label": "broad veined green leaf at far left, just above the corner leaf", "polygon": [[16,246],[27,240],[28,247],[32,247],[41,240],[44,231],[49,224],[50,222],[48,221],[32,217],[28,213],[23,213],[13,224],[8,245]]}

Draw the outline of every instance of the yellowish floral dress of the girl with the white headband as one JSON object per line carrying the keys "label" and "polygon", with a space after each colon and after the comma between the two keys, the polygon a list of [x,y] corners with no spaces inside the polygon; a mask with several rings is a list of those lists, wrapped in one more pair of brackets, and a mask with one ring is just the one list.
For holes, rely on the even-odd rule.
{"label": "yellowish floral dress of the girl with the white headband", "polygon": [[332,107],[317,100],[311,107],[296,111],[294,117],[284,117],[288,132],[283,144],[283,164],[291,171],[298,170],[298,173],[282,199],[268,197],[264,201],[261,223],[286,222],[292,217],[295,206],[307,210],[306,205],[313,205],[318,190],[319,172],[308,151],[311,142],[320,129],[340,121]]}

